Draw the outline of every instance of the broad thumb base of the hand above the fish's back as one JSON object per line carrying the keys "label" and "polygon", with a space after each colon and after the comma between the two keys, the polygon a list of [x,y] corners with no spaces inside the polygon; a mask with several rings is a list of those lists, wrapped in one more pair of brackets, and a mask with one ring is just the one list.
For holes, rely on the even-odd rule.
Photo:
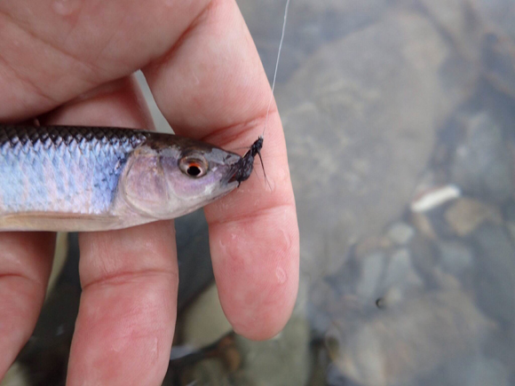
{"label": "broad thumb base of the hand above the fish's back", "polygon": [[130,75],[178,40],[209,0],[3,0],[0,121],[42,114]]}

